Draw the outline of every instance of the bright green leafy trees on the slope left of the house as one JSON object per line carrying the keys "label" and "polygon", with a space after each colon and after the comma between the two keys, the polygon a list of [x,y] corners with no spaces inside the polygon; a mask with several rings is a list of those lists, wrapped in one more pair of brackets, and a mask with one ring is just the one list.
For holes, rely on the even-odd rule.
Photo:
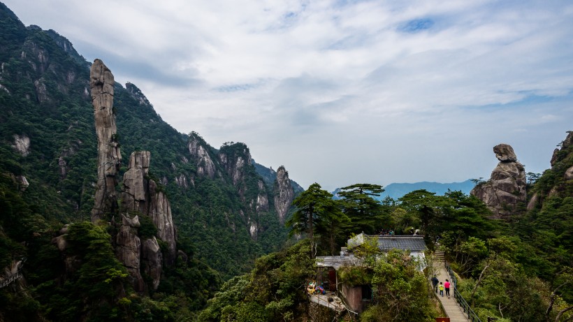
{"label": "bright green leafy trees on the slope left of the house", "polygon": [[258,258],[250,275],[227,281],[199,321],[293,321],[305,315],[305,285],[314,275],[310,240]]}

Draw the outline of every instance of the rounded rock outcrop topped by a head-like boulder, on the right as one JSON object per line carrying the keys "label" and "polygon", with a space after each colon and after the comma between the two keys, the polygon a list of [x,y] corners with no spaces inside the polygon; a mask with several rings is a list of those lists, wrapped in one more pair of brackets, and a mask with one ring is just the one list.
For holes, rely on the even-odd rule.
{"label": "rounded rock outcrop topped by a head-like boulder, on the right", "polygon": [[494,219],[508,219],[525,203],[525,168],[510,145],[496,145],[493,152],[500,163],[493,169],[490,180],[478,184],[470,193],[486,203]]}

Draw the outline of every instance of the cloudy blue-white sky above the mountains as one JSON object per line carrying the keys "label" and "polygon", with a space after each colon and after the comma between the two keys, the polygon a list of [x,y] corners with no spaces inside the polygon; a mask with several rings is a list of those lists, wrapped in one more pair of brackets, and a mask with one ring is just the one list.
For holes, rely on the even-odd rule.
{"label": "cloudy blue-white sky above the mountains", "polygon": [[573,130],[572,1],[0,1],[304,188],[542,173]]}

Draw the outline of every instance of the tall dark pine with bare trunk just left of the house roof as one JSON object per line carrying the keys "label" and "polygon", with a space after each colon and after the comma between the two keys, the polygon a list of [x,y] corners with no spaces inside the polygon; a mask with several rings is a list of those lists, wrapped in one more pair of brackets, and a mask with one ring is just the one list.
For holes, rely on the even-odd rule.
{"label": "tall dark pine with bare trunk just left of the house roof", "polygon": [[291,235],[302,233],[307,235],[310,240],[311,258],[317,254],[314,235],[335,233],[334,229],[328,232],[319,229],[327,228],[339,221],[345,221],[345,215],[340,211],[337,201],[333,200],[332,197],[331,193],[322,190],[320,184],[315,182],[293,200],[292,204],[297,209],[285,225],[291,227]]}

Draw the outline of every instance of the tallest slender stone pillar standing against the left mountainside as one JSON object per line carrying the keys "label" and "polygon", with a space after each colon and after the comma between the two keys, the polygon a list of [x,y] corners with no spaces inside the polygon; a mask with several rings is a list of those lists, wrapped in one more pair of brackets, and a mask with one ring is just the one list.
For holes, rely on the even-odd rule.
{"label": "tallest slender stone pillar standing against the left mountainside", "polygon": [[[122,165],[119,153],[115,113],[113,112],[114,78],[103,61],[96,59],[89,75],[89,86],[92,88],[92,105],[98,139],[98,181],[92,209],[92,222],[106,217],[106,214],[117,214],[117,172]],[[110,216],[111,217],[111,216]]]}

